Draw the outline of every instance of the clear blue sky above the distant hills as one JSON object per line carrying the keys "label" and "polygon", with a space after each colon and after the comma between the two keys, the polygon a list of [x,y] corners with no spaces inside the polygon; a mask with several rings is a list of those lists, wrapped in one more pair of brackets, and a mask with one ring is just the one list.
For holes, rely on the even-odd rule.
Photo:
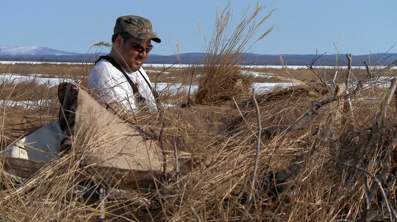
{"label": "clear blue sky above the distant hills", "polygon": [[[0,45],[43,46],[69,52],[94,52],[97,42],[110,42],[118,16],[150,19],[162,39],[151,53],[204,52],[204,36],[213,31],[216,8],[227,0],[168,1],[5,1],[0,13]],[[250,1],[231,0],[231,27]],[[252,1],[252,9],[256,1]],[[397,52],[397,0],[277,0],[260,1],[261,15],[275,13],[258,35],[274,26],[251,52],[258,54]],[[198,25],[200,24],[200,29]],[[393,45],[396,46],[393,47]],[[107,49],[106,49],[107,50]]]}

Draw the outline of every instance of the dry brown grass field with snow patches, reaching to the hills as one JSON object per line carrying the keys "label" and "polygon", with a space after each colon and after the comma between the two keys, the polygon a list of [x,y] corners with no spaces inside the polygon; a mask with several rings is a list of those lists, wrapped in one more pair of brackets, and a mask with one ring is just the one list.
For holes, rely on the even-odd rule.
{"label": "dry brown grass field with snow patches, reaching to the hills", "polygon": [[[0,86],[4,150],[16,138],[58,121],[59,82],[76,82],[84,89],[92,64],[0,67],[0,73],[7,73]],[[336,70],[336,84],[345,82],[345,68],[318,67],[320,80],[307,68],[235,66],[232,73],[224,75],[220,70],[212,80],[222,86],[221,91],[209,86],[203,96],[208,68],[147,65],[154,82],[196,85],[191,93],[195,105],[181,108],[187,103],[187,91],[165,89],[163,102],[178,108],[156,114],[141,111],[134,120],[126,120],[138,128],[162,131],[161,137],[153,138],[167,152],[190,153],[178,159],[179,164],[173,154],[166,155],[172,159],[167,164],[176,169],[173,173],[155,180],[154,186],[131,188],[108,183],[105,177],[92,179],[95,173],[88,173],[84,156],[69,152],[41,164],[28,178],[10,179],[2,170],[1,217],[18,221],[397,219],[393,69],[360,90],[351,84],[346,94],[331,84]],[[379,71],[373,68],[370,73]],[[351,73],[351,82],[359,82],[367,71],[358,68]],[[21,76],[30,78],[17,80]],[[275,81],[299,84],[263,91],[253,100],[253,82]],[[87,146],[80,143],[73,149]],[[81,189],[82,175],[91,189]],[[108,192],[100,200],[95,190],[103,182]]]}

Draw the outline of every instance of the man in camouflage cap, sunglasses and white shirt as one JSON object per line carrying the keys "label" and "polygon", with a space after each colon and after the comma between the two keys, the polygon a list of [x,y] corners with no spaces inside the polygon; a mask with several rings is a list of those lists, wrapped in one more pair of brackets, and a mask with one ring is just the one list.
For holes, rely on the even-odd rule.
{"label": "man in camouflage cap, sunglasses and white shirt", "polygon": [[151,44],[161,40],[152,31],[152,23],[143,17],[126,15],[117,18],[108,56],[100,57],[88,76],[89,88],[106,103],[120,102],[127,108],[147,105],[156,111],[155,92],[141,67]]}

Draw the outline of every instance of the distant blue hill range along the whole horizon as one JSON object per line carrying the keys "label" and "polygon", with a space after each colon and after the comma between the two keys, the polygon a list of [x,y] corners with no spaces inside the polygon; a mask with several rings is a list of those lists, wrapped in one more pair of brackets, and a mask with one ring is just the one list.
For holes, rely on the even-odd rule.
{"label": "distant blue hill range along the whole horizon", "polygon": [[[28,62],[75,62],[93,63],[106,53],[73,53],[39,46],[11,47],[0,45],[0,61],[28,61]],[[161,56],[150,54],[146,63],[151,64],[203,64],[208,54],[201,52],[182,53],[179,55]],[[315,54],[283,54],[283,62],[287,65],[311,64]],[[364,61],[371,65],[388,65],[397,59],[397,53],[375,53],[367,55],[353,55],[353,66],[364,66]],[[245,65],[281,65],[280,55],[244,53],[242,63]],[[337,57],[335,54],[324,54],[315,65],[345,66],[345,54]]]}

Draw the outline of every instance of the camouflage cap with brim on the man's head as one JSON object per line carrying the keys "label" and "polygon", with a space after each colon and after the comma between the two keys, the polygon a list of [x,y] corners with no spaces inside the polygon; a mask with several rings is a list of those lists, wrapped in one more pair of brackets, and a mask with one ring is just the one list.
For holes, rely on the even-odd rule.
{"label": "camouflage cap with brim on the man's head", "polygon": [[151,39],[157,43],[161,42],[161,39],[152,30],[152,22],[136,15],[118,17],[114,26],[114,34],[116,33],[129,33],[138,39]]}

